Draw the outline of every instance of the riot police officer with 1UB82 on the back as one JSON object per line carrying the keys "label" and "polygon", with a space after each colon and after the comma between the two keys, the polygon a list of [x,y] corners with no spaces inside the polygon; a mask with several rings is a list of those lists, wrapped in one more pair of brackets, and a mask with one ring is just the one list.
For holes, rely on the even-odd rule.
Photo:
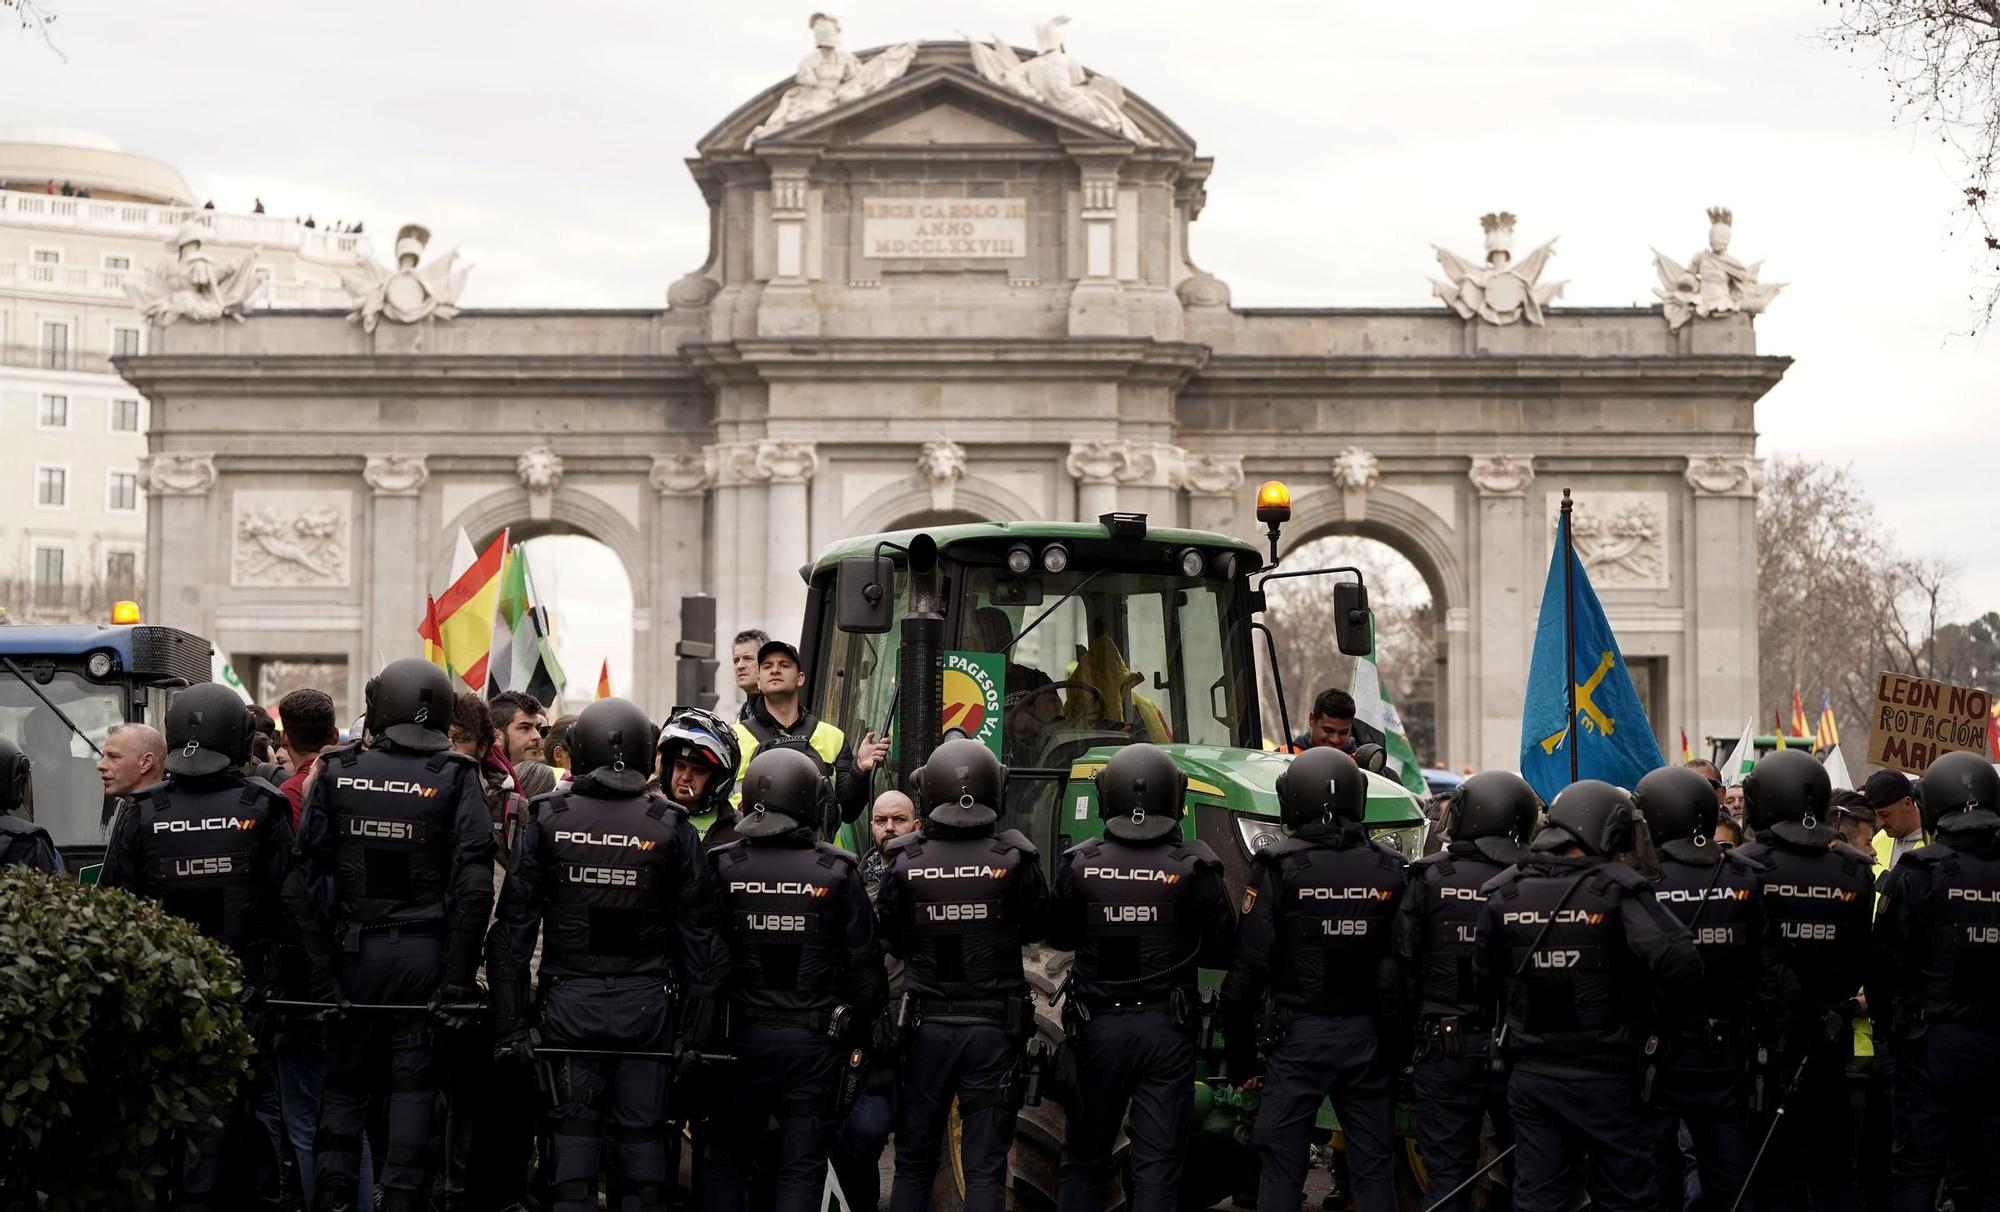
{"label": "riot police officer with 1UB82 on the back", "polygon": [[1848,1132],[1854,996],[1868,964],[1874,908],[1870,858],[1834,842],[1832,796],[1826,768],[1802,750],[1764,754],[1744,776],[1744,812],[1756,842],[1738,852],[1762,868],[1764,918],[1792,978],[1772,1004],[1770,1038],[1760,1042],[1766,1064],[1752,1078],[1766,1092],[1760,1102],[1782,1098],[1786,1108],[1764,1160],[1754,1162],[1750,1192],[1758,1208],[1790,1208],[1800,1190],[1816,1210],[1862,1206],[1850,1152],[1818,1156],[1812,1148]]}

